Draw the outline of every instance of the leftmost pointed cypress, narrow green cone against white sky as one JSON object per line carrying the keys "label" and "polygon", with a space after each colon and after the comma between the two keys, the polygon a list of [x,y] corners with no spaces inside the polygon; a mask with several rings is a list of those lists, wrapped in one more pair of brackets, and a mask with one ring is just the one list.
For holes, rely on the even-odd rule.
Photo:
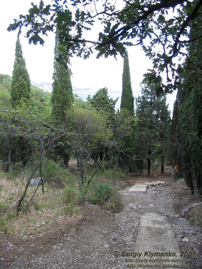
{"label": "leftmost pointed cypress, narrow green cone against white sky", "polygon": [[16,41],[15,61],[13,65],[13,78],[11,83],[11,105],[16,108],[21,101],[30,100],[30,78],[22,55],[19,34]]}

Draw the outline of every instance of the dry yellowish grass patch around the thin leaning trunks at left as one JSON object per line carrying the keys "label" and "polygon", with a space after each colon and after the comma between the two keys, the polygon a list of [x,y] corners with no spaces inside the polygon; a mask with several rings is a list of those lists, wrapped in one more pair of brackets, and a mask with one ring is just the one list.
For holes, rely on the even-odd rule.
{"label": "dry yellowish grass patch around the thin leaning trunks at left", "polygon": [[17,214],[16,204],[22,196],[26,181],[20,177],[13,181],[6,176],[0,173],[0,232],[26,237],[26,235],[41,233],[54,221],[60,220],[61,216],[76,217],[81,214],[77,208],[62,203],[60,189],[48,185],[44,185],[44,194],[41,186],[39,187],[27,208],[27,202],[34,192],[33,187],[28,187],[22,210]]}

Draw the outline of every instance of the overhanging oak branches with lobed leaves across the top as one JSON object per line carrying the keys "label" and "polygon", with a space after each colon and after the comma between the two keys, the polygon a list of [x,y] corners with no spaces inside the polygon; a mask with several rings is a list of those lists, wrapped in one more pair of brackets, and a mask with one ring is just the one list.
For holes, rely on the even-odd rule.
{"label": "overhanging oak branches with lobed leaves across the top", "polygon": [[[182,71],[175,57],[188,57],[189,44],[202,41],[201,6],[201,0],[54,0],[47,6],[41,0],[39,5],[32,3],[27,15],[20,15],[8,30],[27,27],[29,43],[43,45],[43,35],[57,26],[67,57],[76,54],[84,59],[93,51],[97,58],[124,56],[127,45],[140,44],[153,61],[146,79],[160,82],[166,72],[166,82],[156,90],[168,93],[177,88]],[[197,27],[190,34],[191,23]],[[87,31],[95,28],[97,33],[89,40]]]}

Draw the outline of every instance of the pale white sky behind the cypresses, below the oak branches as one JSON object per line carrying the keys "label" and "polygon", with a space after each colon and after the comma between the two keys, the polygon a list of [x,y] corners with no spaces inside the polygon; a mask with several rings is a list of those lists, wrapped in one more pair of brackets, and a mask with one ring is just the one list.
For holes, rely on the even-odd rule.
{"label": "pale white sky behind the cypresses, below the oak branches", "polygon": [[[46,4],[51,0],[45,0]],[[118,2],[122,0],[118,0]],[[0,9],[0,73],[12,76],[13,63],[15,59],[15,43],[18,30],[8,32],[10,23],[13,19],[18,19],[19,15],[28,13],[31,2],[38,4],[40,0],[6,0],[1,1]],[[26,28],[22,29],[20,34],[20,43],[22,45],[23,57],[25,58],[26,68],[30,79],[35,82],[52,83],[53,61],[54,61],[54,33],[45,37],[44,46],[37,44],[29,44],[28,38],[25,37]],[[90,33],[90,34],[93,34]],[[138,97],[141,88],[140,83],[147,69],[152,67],[151,61],[145,56],[141,47],[128,47],[128,58],[130,65],[131,86],[134,97]],[[71,78],[72,86],[77,88],[91,88],[89,92],[91,96],[99,89],[107,87],[108,94],[113,98],[119,98],[117,107],[120,106],[122,91],[122,73],[123,58],[121,56],[96,59],[96,55],[90,55],[89,59],[83,60],[74,56],[71,58],[71,70],[73,76]],[[169,102],[169,110],[173,110],[173,102],[176,98],[176,92],[169,94],[167,103]]]}

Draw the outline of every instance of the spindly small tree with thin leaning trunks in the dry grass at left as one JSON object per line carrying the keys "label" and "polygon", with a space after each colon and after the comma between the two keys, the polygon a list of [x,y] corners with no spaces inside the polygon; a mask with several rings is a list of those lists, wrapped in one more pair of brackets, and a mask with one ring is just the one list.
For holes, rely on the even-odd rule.
{"label": "spindly small tree with thin leaning trunks in the dry grass at left", "polygon": [[[18,123],[20,123],[20,126],[15,126],[15,136],[17,135],[25,139],[29,139],[32,148],[32,150],[30,151],[30,160],[27,163],[26,167],[31,161],[35,161],[32,168],[32,172],[30,173],[27,180],[23,195],[17,202],[17,211],[20,212],[21,204],[26,196],[30,180],[33,178],[33,175],[37,171],[37,169],[39,169],[40,171],[40,181],[42,182],[42,190],[44,192],[43,175],[48,164],[48,158],[50,154],[52,154],[53,148],[60,145],[64,133],[62,127],[54,128],[53,126],[48,125],[48,122],[46,121],[46,118],[44,118],[43,114],[34,115],[31,112],[27,111],[20,112],[20,114],[18,115]],[[47,161],[44,171],[42,171],[41,164],[45,157],[47,157]],[[30,201],[33,199],[39,187],[39,184],[34,191],[33,196],[27,203],[27,207],[29,206]]]}

